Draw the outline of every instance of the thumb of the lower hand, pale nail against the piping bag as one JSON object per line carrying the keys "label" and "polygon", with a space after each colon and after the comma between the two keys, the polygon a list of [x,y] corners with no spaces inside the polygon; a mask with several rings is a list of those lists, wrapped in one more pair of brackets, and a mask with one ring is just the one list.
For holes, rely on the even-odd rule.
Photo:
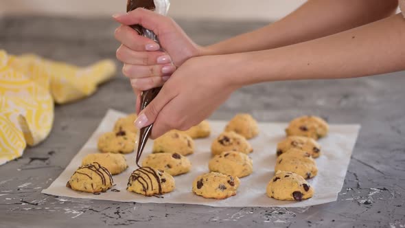
{"label": "thumb of the lower hand, pale nail against the piping bag", "polygon": [[168,94],[165,89],[162,88],[156,98],[154,98],[154,100],[152,100],[152,102],[150,102],[148,106],[146,106],[145,109],[139,113],[137,119],[135,120],[135,126],[141,129],[153,124],[154,120],[157,118],[157,115],[159,115],[159,112],[168,102],[170,102],[170,100],[172,100],[170,94]]}

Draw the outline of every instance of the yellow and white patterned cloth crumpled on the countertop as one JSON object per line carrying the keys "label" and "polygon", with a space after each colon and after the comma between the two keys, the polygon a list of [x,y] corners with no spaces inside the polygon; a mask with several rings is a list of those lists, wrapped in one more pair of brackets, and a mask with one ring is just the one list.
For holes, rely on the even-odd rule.
{"label": "yellow and white patterned cloth crumpled on the countertop", "polygon": [[35,146],[49,135],[54,102],[85,98],[114,73],[112,60],[76,67],[0,50],[0,165],[21,157],[27,145]]}

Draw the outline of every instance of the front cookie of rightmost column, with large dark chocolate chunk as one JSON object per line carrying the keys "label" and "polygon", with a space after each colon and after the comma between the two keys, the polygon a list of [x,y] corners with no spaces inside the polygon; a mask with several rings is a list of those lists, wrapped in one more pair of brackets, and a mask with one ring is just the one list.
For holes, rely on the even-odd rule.
{"label": "front cookie of rightmost column, with large dark chocolate chunk", "polygon": [[314,196],[314,188],[302,176],[279,170],[268,183],[266,194],[281,201],[302,201]]}

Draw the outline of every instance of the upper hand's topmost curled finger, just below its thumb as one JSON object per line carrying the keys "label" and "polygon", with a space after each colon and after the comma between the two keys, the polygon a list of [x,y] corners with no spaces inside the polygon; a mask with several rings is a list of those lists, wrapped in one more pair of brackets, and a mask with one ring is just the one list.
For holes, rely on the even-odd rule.
{"label": "upper hand's topmost curled finger, just below its thumb", "polygon": [[127,25],[120,25],[117,30],[115,30],[114,36],[117,41],[135,51],[158,51],[160,49],[159,44],[155,43],[150,38],[140,36],[137,31]]}

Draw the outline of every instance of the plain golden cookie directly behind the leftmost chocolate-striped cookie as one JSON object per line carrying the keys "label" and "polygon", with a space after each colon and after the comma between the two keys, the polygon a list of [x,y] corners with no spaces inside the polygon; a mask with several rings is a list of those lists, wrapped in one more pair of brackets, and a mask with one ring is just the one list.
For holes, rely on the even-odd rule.
{"label": "plain golden cookie directly behind the leftmost chocolate-striped cookie", "polygon": [[105,153],[87,155],[82,160],[82,166],[89,165],[93,162],[99,163],[113,175],[120,174],[128,168],[124,155],[119,154]]}

